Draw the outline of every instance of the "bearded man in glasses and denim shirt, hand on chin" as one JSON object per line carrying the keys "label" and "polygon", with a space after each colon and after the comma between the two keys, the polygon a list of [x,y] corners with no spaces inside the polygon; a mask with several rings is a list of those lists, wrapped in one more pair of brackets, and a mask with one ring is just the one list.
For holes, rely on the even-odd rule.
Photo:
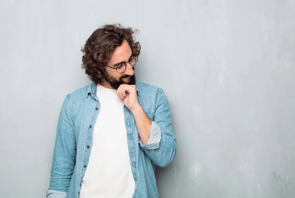
{"label": "bearded man in glasses and denim shirt, hand on chin", "polygon": [[92,83],[62,104],[47,198],[158,198],[154,165],[176,153],[168,100],[135,80],[137,31],[96,29],[82,52]]}

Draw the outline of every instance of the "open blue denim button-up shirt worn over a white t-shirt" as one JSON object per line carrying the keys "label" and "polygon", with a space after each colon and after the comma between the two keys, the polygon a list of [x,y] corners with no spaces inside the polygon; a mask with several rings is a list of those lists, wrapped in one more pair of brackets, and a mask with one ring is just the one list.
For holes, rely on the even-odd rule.
{"label": "open blue denim button-up shirt worn over a white t-shirt", "polygon": [[[135,120],[124,106],[130,166],[135,181],[133,198],[158,198],[154,166],[169,165],[176,154],[176,138],[163,89],[136,81],[138,101],[151,120],[146,145],[139,139]],[[61,106],[47,198],[79,198],[88,166],[92,134],[100,110],[96,84],[68,94]],[[112,142],[109,142],[112,144]],[[101,163],[104,163],[101,159]]]}

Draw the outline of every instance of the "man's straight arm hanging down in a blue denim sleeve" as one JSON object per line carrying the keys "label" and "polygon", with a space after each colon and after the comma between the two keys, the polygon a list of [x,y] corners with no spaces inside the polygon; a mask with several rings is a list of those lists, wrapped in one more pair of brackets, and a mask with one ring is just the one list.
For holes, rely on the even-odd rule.
{"label": "man's straight arm hanging down in a blue denim sleeve", "polygon": [[66,198],[76,161],[76,140],[72,121],[72,104],[69,95],[63,101],[51,167],[47,198]]}

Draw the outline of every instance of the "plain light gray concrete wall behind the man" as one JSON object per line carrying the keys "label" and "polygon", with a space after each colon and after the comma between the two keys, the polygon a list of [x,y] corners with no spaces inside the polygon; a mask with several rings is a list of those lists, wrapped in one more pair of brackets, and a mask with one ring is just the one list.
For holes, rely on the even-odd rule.
{"label": "plain light gray concrete wall behind the man", "polygon": [[80,47],[138,28],[137,79],[170,101],[161,198],[295,197],[294,0],[0,1],[0,197],[45,197],[59,110],[89,80]]}

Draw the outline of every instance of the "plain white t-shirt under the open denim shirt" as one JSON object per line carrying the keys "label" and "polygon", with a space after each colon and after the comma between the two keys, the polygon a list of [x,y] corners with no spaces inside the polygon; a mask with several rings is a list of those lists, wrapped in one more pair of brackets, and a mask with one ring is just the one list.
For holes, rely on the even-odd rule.
{"label": "plain white t-shirt under the open denim shirt", "polygon": [[93,128],[89,164],[82,179],[80,198],[132,198],[131,172],[123,100],[117,90],[97,84],[100,110]]}

